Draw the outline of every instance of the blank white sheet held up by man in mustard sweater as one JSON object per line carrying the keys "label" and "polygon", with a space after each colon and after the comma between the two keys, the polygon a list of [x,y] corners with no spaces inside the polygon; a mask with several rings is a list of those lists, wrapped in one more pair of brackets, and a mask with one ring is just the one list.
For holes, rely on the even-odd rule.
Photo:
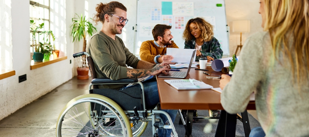
{"label": "blank white sheet held up by man in mustard sweater", "polygon": [[[196,49],[187,48],[166,48],[166,55],[171,55],[174,59],[171,62],[175,63],[190,63],[192,52]],[[195,62],[196,54],[194,53],[193,62]]]}

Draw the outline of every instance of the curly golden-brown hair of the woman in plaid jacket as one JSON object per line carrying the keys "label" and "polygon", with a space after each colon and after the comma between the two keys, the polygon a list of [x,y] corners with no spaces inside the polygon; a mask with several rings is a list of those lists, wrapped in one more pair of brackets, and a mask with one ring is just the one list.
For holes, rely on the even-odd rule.
{"label": "curly golden-brown hair of the woman in plaid jacket", "polygon": [[212,37],[214,36],[214,27],[208,23],[207,21],[205,21],[202,18],[195,18],[195,19],[190,19],[184,29],[184,33],[182,35],[182,38],[185,41],[189,41],[192,40],[194,38],[194,36],[191,34],[190,32],[190,24],[191,23],[196,23],[197,28],[200,29],[202,31],[201,36],[204,39],[205,42],[208,42],[212,39]]}

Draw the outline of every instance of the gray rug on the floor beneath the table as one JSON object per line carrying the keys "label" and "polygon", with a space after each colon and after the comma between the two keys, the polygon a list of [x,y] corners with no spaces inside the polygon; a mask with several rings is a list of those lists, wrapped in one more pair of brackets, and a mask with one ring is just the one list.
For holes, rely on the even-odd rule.
{"label": "gray rug on the floor beneath the table", "polygon": [[[197,110],[198,116],[209,116],[208,110]],[[250,128],[260,127],[260,123],[248,113],[248,118],[250,122]],[[192,126],[192,136],[193,137],[214,137],[217,130],[219,119],[199,119],[197,123],[193,123]],[[174,122],[174,126],[176,128],[176,132],[178,137],[183,137],[185,135],[185,130],[183,125],[179,125],[179,116],[177,117]],[[151,129],[151,122],[148,123],[148,126],[145,132],[142,134],[143,137],[152,137],[152,129]],[[244,137],[245,133],[243,130],[243,123],[237,120],[236,124],[236,137]]]}

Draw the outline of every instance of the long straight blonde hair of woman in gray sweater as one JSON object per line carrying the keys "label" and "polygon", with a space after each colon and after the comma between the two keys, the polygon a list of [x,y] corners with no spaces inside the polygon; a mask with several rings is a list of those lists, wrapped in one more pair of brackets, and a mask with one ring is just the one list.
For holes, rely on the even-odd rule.
{"label": "long straight blonde hair of woman in gray sweater", "polygon": [[[291,62],[292,72],[297,71],[297,82],[308,82],[308,0],[265,0],[264,6],[264,30],[270,33],[274,56],[278,59],[279,53],[282,52]],[[288,44],[291,38],[293,46]]]}

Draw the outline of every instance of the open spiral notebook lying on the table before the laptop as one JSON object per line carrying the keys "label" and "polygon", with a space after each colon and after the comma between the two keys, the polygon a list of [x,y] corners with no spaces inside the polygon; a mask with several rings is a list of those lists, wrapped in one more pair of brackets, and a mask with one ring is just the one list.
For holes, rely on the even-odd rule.
{"label": "open spiral notebook lying on the table before the laptop", "polygon": [[164,80],[164,82],[171,85],[173,88],[177,90],[214,88],[211,85],[205,84],[204,82],[197,81],[195,79]]}

